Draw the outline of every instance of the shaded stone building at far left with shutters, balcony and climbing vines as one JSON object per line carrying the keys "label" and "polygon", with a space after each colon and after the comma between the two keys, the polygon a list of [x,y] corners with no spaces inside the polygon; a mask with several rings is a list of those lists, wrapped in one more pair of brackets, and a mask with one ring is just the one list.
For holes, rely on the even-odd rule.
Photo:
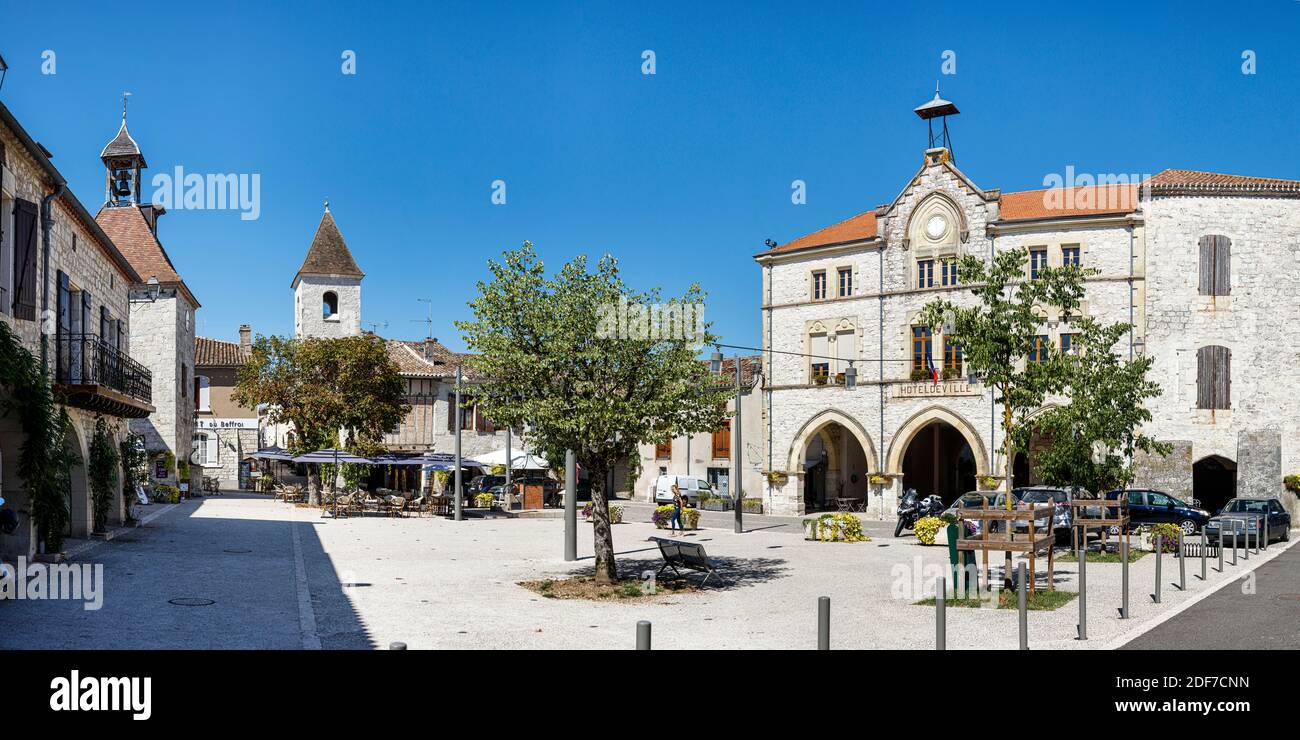
{"label": "shaded stone building at far left with shutters, balcony and climbing vines", "polygon": [[[0,321],[43,359],[72,416],[66,535],[86,537],[94,524],[86,462],[96,419],[121,442],[129,421],[153,412],[151,373],[129,355],[138,328],[127,294],[140,276],[49,160],[0,103]],[[16,533],[0,535],[4,558],[30,557],[40,545],[18,476],[26,437],[16,414],[0,416],[0,497],[20,523]],[[124,518],[122,497],[114,496],[109,524]]]}

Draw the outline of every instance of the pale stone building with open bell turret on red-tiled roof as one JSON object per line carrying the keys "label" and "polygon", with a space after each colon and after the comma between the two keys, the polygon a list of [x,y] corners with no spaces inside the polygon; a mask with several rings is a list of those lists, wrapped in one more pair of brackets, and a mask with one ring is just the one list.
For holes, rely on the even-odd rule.
{"label": "pale stone building with open bell turret on red-tiled roof", "polygon": [[[166,209],[140,200],[140,173],[148,164],[126,130],[125,113],[100,160],[107,186],[95,220],[142,278],[130,286],[131,326],[136,333],[131,356],[153,375],[156,411],[148,419],[133,420],[131,432],[144,437],[152,481],[178,485],[182,463],[194,462],[194,323],[199,300],[159,241],[159,220]],[[166,454],[174,460],[170,467],[165,464]],[[191,466],[185,482],[192,488],[200,475]]]}

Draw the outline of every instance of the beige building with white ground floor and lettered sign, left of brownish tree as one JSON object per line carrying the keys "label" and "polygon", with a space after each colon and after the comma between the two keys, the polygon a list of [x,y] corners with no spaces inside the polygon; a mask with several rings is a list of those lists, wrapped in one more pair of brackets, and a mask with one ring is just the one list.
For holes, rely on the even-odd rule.
{"label": "beige building with white ground floor and lettered sign, left of brownish tree", "polygon": [[194,462],[203,475],[217,479],[224,490],[252,488],[255,462],[248,455],[261,447],[257,412],[244,408],[230,394],[239,368],[248,362],[252,328],[239,326],[239,342],[207,337],[194,339],[194,372],[198,411],[194,425]]}

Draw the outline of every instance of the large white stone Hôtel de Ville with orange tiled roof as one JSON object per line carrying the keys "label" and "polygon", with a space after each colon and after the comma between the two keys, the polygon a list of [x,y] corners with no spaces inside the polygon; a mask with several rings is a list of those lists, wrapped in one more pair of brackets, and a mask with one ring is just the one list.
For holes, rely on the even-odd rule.
{"label": "large white stone H\u00f4tel de Ville with orange tiled roof", "polygon": [[[892,202],[755,256],[764,347],[794,352],[764,355],[764,467],[789,475],[764,484],[768,506],[805,512],[846,496],[889,518],[905,488],[952,501],[1000,475],[993,398],[918,315],[939,297],[974,300],[945,258],[1022,247],[1026,278],[1040,265],[1100,269],[1082,312],[1131,324],[1118,350],[1154,359],[1164,393],[1147,432],[1174,454],[1135,460],[1135,485],[1209,509],[1279,496],[1296,514],[1282,485],[1300,471],[1295,358],[1266,337],[1300,320],[1297,244],[1296,181],[1166,169],[1001,192],[932,146]],[[1069,321],[1050,308],[1043,319],[1037,341],[1069,349]],[[1032,447],[1014,460],[1017,485],[1035,481]]]}

